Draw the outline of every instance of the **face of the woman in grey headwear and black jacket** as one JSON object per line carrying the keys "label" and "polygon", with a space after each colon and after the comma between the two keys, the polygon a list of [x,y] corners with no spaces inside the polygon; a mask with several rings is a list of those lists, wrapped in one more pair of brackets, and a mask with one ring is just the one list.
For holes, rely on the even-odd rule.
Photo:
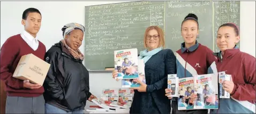
{"label": "face of the woman in grey headwear and black jacket", "polygon": [[72,30],[68,35],[66,35],[66,44],[70,46],[73,50],[77,50],[81,44],[84,37],[84,33],[80,29]]}

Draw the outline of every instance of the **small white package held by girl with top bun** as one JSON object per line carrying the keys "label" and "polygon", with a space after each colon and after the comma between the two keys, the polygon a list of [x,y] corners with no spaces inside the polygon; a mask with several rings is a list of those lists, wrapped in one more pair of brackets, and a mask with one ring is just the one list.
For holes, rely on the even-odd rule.
{"label": "small white package held by girl with top bun", "polygon": [[178,97],[179,78],[176,74],[168,75],[167,79],[168,88],[172,90],[171,95],[168,97]]}

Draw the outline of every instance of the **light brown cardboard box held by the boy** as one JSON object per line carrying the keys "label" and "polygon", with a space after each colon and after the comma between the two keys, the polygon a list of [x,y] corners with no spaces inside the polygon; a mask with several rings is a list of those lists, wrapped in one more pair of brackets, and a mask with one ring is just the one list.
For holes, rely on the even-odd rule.
{"label": "light brown cardboard box held by the boy", "polygon": [[14,78],[29,80],[30,83],[43,85],[50,64],[33,54],[23,55],[13,73]]}

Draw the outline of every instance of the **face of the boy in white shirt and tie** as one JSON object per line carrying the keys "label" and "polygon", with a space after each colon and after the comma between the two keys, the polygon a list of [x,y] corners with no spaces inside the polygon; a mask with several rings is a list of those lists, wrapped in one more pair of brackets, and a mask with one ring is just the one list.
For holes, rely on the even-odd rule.
{"label": "face of the boy in white shirt and tie", "polygon": [[41,14],[33,12],[28,13],[26,19],[22,19],[21,24],[24,25],[25,30],[31,34],[33,37],[36,37],[37,32],[39,32],[41,27]]}

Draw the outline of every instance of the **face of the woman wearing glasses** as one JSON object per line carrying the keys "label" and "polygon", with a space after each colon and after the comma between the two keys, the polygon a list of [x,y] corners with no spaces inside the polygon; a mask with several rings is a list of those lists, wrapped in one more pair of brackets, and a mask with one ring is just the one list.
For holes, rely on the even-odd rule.
{"label": "face of the woman wearing glasses", "polygon": [[146,36],[146,46],[148,50],[154,50],[155,48],[159,47],[159,34],[155,29],[149,30]]}

